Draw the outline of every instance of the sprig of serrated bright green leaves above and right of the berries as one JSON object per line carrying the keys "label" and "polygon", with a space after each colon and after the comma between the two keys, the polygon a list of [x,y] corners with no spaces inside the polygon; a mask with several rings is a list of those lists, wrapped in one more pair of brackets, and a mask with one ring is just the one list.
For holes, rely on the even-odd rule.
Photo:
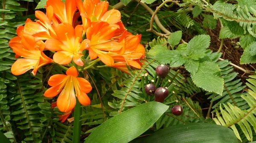
{"label": "sprig of serrated bright green leaves above and right of the berries", "polygon": [[224,80],[220,77],[218,64],[209,59],[211,54],[206,50],[209,43],[208,35],[199,35],[191,39],[187,45],[179,45],[176,50],[160,48],[158,45],[149,50],[148,54],[154,56],[161,64],[170,64],[170,67],[184,64],[198,87],[221,95]]}

